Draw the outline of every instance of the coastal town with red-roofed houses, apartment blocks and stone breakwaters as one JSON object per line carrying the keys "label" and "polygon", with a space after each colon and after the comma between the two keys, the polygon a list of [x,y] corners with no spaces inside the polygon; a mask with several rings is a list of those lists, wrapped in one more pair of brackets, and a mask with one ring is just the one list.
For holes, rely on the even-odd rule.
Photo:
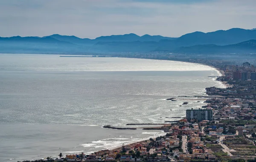
{"label": "coastal town with red-roofed houses, apartment blocks and stone breakwaters", "polygon": [[208,87],[205,106],[188,109],[186,118],[163,127],[147,128],[164,130],[165,136],[90,155],[60,153],[57,159],[38,161],[256,161],[256,67],[245,62],[218,68],[223,75],[217,80],[227,88]]}

